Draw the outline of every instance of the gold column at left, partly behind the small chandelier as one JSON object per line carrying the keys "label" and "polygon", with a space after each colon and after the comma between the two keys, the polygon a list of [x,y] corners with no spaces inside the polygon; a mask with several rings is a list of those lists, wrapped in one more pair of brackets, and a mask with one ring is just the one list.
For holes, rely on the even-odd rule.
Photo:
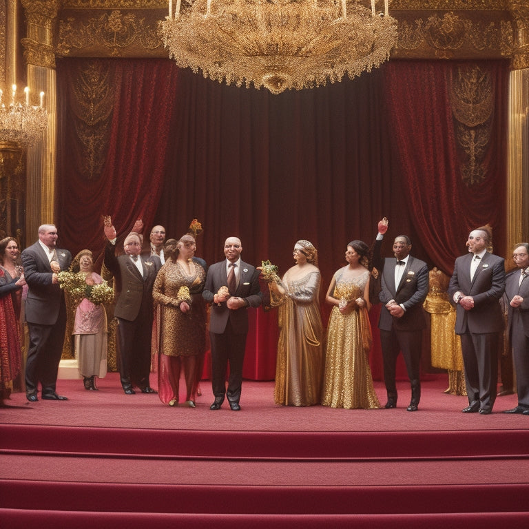
{"label": "gold column at left, partly behind the small chandelier", "polygon": [[48,128],[43,141],[28,148],[26,233],[28,243],[36,240],[41,224],[54,222],[54,185],[57,135],[56,72],[52,29],[60,0],[21,0],[28,21],[27,37],[22,39],[28,68],[28,86],[45,92]]}

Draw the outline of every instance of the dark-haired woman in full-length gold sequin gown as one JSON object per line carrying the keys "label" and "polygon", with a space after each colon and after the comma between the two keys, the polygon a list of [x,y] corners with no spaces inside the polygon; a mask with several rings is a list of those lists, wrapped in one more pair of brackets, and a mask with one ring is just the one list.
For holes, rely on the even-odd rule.
{"label": "dark-haired woman in full-length gold sequin gown", "polygon": [[333,304],[327,327],[322,404],[331,408],[380,408],[369,367],[369,247],[347,245],[349,264],[333,276],[326,301]]}

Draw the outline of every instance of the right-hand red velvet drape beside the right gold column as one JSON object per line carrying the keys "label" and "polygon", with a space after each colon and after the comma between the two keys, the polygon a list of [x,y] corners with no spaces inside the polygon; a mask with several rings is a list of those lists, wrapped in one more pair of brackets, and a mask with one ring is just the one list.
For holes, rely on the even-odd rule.
{"label": "right-hand red velvet drape beside the right gold column", "polygon": [[[461,147],[450,100],[458,69],[469,66],[490,77],[492,90],[490,141],[482,157],[485,176],[473,185],[461,177]],[[507,64],[391,61],[384,74],[398,176],[413,211],[416,242],[428,261],[451,275],[455,258],[466,251],[468,233],[487,223],[495,251],[501,253],[506,240]]]}

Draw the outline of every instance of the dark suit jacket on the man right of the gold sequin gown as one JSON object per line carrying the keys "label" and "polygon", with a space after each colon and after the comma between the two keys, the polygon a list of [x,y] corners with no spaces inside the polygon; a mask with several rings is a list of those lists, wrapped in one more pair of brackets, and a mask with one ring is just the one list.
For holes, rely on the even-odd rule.
{"label": "dark suit jacket on the man right of the gold sequin gown", "polygon": [[[428,295],[428,265],[420,259],[409,256],[400,284],[395,289],[396,266],[395,258],[384,259],[382,290],[379,295],[383,304],[378,322],[379,329],[383,331],[391,331],[393,328],[400,331],[424,329],[426,317],[422,304]],[[389,300],[395,300],[398,304],[404,305],[406,311],[401,318],[393,318],[388,309],[384,307]]]}

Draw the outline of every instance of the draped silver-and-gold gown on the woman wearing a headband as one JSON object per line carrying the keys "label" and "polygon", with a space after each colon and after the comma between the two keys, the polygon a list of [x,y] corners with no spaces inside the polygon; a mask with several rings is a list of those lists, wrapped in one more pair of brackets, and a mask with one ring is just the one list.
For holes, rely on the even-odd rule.
{"label": "draped silver-and-gold gown on the woman wearing a headband", "polygon": [[271,305],[279,306],[280,335],[276,361],[276,404],[319,404],[323,375],[323,327],[320,315],[320,272],[291,280],[289,271],[279,284],[285,294],[270,289]]}

